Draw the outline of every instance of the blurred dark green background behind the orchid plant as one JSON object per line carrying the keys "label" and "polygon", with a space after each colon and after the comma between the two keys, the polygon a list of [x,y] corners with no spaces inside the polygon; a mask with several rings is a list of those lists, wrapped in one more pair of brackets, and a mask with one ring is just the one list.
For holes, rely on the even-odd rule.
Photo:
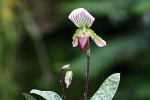
{"label": "blurred dark green background behind the orchid plant", "polygon": [[[111,74],[121,73],[114,100],[150,100],[150,0],[0,0],[0,100],[25,100],[33,88],[60,93],[60,68],[70,63],[67,100],[83,100],[86,52],[72,47],[75,8],[95,18],[89,99]],[[44,100],[33,95],[39,100]]]}

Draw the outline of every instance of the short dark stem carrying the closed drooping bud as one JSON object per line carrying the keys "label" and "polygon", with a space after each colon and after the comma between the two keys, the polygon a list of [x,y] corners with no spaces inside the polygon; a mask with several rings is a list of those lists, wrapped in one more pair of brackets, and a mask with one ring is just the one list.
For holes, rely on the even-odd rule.
{"label": "short dark stem carrying the closed drooping bud", "polygon": [[60,71],[61,97],[63,100],[66,100],[63,71],[64,71],[64,69],[61,69],[61,71]]}

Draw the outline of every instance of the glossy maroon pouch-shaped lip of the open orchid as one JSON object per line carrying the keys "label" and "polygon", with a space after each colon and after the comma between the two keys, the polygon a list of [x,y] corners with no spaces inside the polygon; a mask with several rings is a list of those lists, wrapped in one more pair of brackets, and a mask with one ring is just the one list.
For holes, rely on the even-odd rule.
{"label": "glossy maroon pouch-shaped lip of the open orchid", "polygon": [[78,36],[78,44],[81,51],[84,51],[88,48],[89,45],[89,36]]}

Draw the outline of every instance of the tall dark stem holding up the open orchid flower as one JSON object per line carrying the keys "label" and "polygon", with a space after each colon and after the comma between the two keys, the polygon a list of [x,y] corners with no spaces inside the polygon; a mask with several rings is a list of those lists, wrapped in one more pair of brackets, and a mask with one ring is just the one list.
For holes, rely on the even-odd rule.
{"label": "tall dark stem holding up the open orchid flower", "polygon": [[86,84],[85,84],[84,100],[87,100],[87,95],[88,95],[89,70],[90,70],[90,47],[88,47],[87,49],[87,70],[86,70]]}

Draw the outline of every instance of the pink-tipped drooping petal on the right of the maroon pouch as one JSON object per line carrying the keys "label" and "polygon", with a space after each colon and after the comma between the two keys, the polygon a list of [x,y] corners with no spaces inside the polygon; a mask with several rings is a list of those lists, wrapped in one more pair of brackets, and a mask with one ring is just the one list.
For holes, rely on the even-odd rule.
{"label": "pink-tipped drooping petal on the right of the maroon pouch", "polygon": [[92,34],[90,34],[90,36],[91,36],[92,40],[97,44],[97,46],[99,46],[99,47],[106,46],[106,42],[102,38],[100,38],[100,37],[96,38]]}

